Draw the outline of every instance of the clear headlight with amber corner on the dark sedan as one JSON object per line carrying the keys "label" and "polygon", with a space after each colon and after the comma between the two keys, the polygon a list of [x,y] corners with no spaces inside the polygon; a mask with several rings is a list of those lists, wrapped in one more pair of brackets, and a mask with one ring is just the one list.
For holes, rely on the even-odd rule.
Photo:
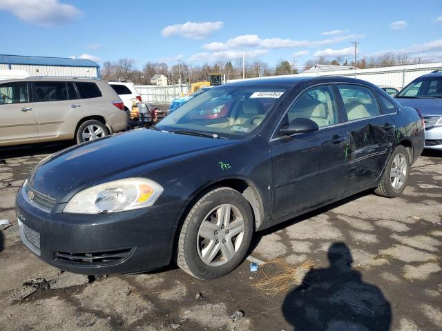
{"label": "clear headlight with amber corner on the dark sedan", "polygon": [[119,179],[78,192],[63,211],[99,214],[144,208],[153,205],[162,192],[162,186],[150,179]]}

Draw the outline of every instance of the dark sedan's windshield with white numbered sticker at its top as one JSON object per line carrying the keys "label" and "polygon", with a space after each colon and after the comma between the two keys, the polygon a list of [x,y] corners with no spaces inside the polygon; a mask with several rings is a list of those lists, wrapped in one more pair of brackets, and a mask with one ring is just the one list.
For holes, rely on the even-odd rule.
{"label": "dark sedan's windshield with white numbered sticker at its top", "polygon": [[211,88],[177,108],[157,128],[220,138],[246,136],[261,125],[284,92],[274,86]]}

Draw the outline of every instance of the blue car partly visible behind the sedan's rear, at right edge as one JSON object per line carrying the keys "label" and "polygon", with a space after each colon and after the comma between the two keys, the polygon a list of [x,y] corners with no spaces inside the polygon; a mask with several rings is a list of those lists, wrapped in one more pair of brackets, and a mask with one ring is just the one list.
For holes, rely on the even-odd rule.
{"label": "blue car partly visible behind the sedan's rear, at right edge", "polygon": [[425,148],[442,150],[442,70],[414,79],[396,95],[396,101],[423,114]]}

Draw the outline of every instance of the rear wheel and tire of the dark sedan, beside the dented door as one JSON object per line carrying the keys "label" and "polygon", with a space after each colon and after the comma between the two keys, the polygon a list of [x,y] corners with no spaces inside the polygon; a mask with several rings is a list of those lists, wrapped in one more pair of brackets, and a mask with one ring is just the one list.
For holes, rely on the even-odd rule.
{"label": "rear wheel and tire of the dark sedan, beside the dented door", "polygon": [[399,145],[385,166],[381,183],[374,192],[381,197],[398,197],[405,190],[409,173],[410,154],[404,146]]}

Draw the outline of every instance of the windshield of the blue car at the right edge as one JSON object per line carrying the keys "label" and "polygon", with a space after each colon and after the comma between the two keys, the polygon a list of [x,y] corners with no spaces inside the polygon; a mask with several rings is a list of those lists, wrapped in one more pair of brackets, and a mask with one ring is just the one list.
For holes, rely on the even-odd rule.
{"label": "windshield of the blue car at the right edge", "polygon": [[399,92],[397,98],[442,98],[442,76],[416,79]]}

